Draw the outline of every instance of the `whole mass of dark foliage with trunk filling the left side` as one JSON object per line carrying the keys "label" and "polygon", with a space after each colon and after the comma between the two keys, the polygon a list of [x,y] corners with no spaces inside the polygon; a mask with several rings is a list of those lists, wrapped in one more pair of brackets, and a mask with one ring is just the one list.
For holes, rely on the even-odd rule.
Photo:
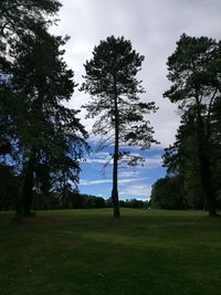
{"label": "whole mass of dark foliage with trunk filling the left side", "polygon": [[0,3],[0,154],[21,176],[18,214],[30,213],[33,188],[48,196],[76,186],[88,148],[78,110],[64,106],[76,86],[63,60],[69,38],[48,30],[60,7],[56,0]]}

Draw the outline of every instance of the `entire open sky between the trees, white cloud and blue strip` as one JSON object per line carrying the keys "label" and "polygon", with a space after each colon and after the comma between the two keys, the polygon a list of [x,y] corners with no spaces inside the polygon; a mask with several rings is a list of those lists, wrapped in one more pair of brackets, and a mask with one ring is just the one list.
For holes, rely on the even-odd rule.
{"label": "entire open sky between the trees, white cloud and blue strip", "polygon": [[[63,0],[59,13],[60,22],[53,33],[70,35],[65,45],[65,61],[75,73],[75,82],[83,82],[84,63],[92,57],[92,51],[101,40],[109,35],[130,40],[133,48],[145,55],[138,78],[143,80],[146,94],[144,102],[154,101],[159,107],[148,116],[160,141],[150,150],[143,152],[143,167],[119,167],[119,198],[149,198],[152,183],[166,175],[161,167],[164,148],[175,141],[180,114],[177,106],[162,97],[170,87],[167,78],[167,59],[176,49],[182,33],[191,36],[206,35],[221,38],[220,0]],[[70,107],[81,109],[90,96],[75,91]],[[109,198],[112,190],[112,164],[104,171],[104,165],[113,147],[97,150],[98,139],[91,134],[93,122],[85,119],[83,125],[90,133],[93,152],[83,161],[80,175],[80,191]],[[131,149],[139,154],[138,149]]]}

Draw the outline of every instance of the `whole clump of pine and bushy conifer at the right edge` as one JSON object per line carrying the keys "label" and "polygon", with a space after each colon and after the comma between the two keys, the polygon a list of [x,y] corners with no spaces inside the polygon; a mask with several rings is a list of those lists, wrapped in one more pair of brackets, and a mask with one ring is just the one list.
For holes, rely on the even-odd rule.
{"label": "whole clump of pine and bushy conifer at the right edge", "polygon": [[182,34],[167,65],[172,85],[165,96],[179,103],[182,125],[169,149],[175,152],[166,151],[165,164],[181,173],[193,202],[199,197],[206,199],[204,207],[215,215],[220,188],[215,177],[220,165],[215,162],[220,158],[221,113],[217,102],[221,96],[221,42]]}

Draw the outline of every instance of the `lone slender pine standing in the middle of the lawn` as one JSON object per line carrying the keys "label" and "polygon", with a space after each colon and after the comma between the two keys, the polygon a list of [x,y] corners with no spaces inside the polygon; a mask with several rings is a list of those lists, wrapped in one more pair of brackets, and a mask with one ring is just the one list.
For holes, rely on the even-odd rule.
{"label": "lone slender pine standing in the middle of the lawn", "polygon": [[82,89],[90,93],[92,102],[85,108],[88,117],[98,117],[94,124],[94,133],[114,137],[113,152],[113,190],[114,217],[119,218],[117,171],[118,161],[137,165],[141,157],[133,156],[120,149],[120,144],[139,146],[141,149],[156,143],[152,128],[144,115],[156,110],[154,103],[139,102],[138,94],[144,93],[136,78],[144,56],[136,53],[130,41],[108,36],[101,41],[93,51],[93,59],[85,64],[85,83]]}

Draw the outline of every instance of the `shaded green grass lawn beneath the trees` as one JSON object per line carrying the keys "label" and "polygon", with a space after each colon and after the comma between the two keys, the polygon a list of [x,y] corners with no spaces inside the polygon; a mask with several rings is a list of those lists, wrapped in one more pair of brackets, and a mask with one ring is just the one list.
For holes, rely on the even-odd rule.
{"label": "shaded green grass lawn beneath the trees", "polygon": [[220,295],[221,219],[155,210],[0,213],[0,294]]}

